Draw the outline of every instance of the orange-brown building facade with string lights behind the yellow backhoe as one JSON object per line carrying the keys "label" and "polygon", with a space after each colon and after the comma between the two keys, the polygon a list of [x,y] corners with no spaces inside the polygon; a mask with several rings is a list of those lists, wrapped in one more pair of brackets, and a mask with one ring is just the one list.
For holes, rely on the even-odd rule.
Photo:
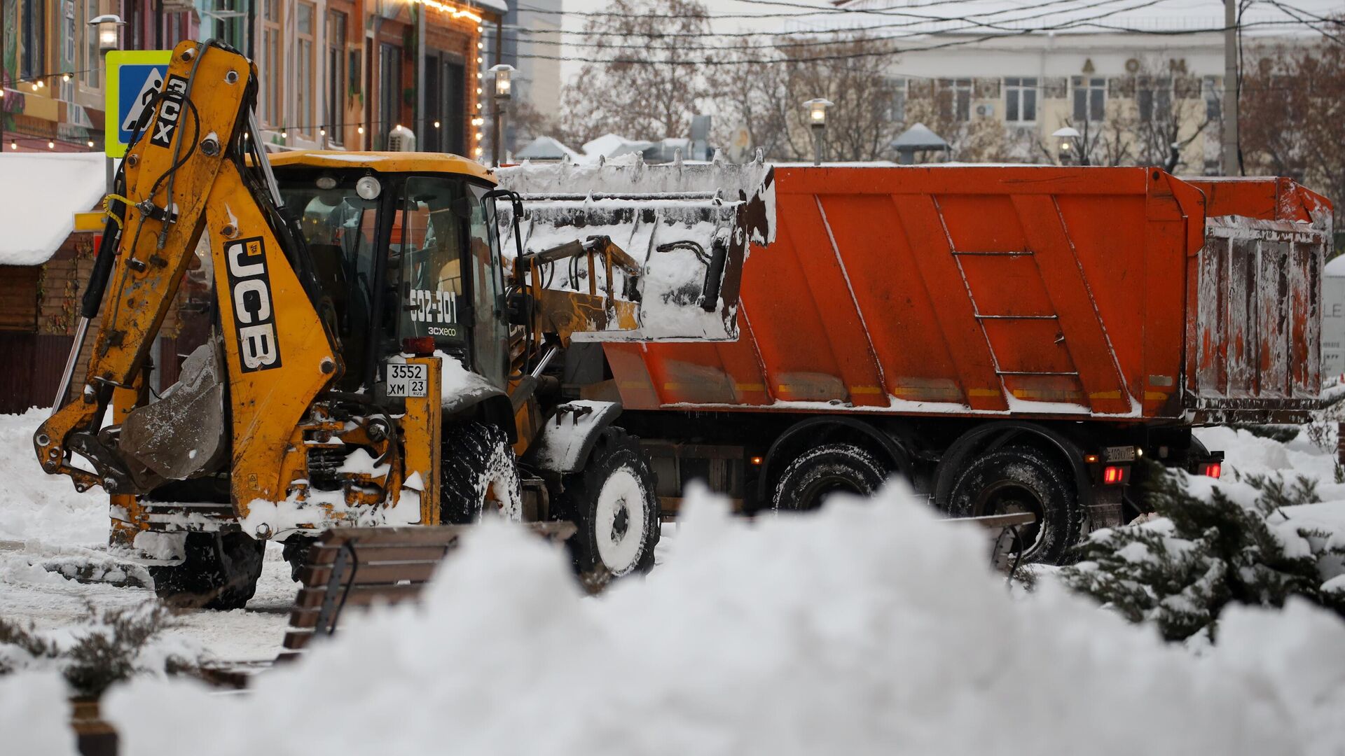
{"label": "orange-brown building facade with string lights behind the yellow backhoe", "polygon": [[87,20],[125,19],[124,50],[218,38],[257,65],[269,149],[417,149],[480,157],[484,38],[503,0],[0,0],[0,148],[102,149],[101,52]]}

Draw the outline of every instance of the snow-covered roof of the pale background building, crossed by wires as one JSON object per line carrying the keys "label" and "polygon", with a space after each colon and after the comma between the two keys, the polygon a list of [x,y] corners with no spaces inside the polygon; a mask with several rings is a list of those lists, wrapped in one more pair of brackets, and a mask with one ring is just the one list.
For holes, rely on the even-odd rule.
{"label": "snow-covered roof of the pale background building, crossed by wires", "polygon": [[[1049,7],[1046,7],[1049,5]],[[1270,3],[1252,4],[1243,12],[1247,34],[1302,34],[1302,19],[1340,11],[1340,0],[1295,0],[1297,19]],[[1099,34],[1122,30],[1153,32],[1220,30],[1224,26],[1223,0],[1158,0],[1059,4],[1022,0],[849,0],[834,8],[819,8],[799,27],[838,31],[886,26],[884,35],[928,32],[1015,34],[1025,30],[1056,34]],[[893,24],[897,24],[896,30]]]}

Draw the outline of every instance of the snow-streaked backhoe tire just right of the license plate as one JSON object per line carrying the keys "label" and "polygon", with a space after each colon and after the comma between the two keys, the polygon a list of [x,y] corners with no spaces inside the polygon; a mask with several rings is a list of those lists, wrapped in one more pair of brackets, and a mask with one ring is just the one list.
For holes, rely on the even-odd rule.
{"label": "snow-streaked backhoe tire just right of the license plate", "polygon": [[[518,461],[499,425],[463,422],[444,428],[440,469],[440,522],[468,525],[483,514],[519,519],[523,494]],[[487,507],[487,502],[494,502]]]}

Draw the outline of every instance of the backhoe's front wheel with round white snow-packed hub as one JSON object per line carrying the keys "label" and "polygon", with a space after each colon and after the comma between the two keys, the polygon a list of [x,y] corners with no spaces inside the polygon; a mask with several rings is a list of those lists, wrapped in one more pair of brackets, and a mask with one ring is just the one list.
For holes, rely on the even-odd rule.
{"label": "backhoe's front wheel with round white snow-packed hub", "polygon": [[654,469],[633,437],[608,428],[584,471],[564,483],[558,511],[578,526],[568,543],[580,574],[615,578],[654,566],[663,513]]}

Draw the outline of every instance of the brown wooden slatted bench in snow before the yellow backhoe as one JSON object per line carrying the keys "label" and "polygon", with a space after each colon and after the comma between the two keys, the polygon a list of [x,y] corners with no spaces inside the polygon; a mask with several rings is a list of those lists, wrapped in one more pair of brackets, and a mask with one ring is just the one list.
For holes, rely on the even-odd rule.
{"label": "brown wooden slatted bench in snow before the yellow backhoe", "polygon": [[[538,535],[564,541],[574,534],[570,522],[537,522]],[[472,526],[338,527],[308,549],[300,572],[299,596],[289,615],[285,651],[293,659],[319,635],[331,635],[347,607],[399,604],[420,597],[444,557],[457,547]]]}

